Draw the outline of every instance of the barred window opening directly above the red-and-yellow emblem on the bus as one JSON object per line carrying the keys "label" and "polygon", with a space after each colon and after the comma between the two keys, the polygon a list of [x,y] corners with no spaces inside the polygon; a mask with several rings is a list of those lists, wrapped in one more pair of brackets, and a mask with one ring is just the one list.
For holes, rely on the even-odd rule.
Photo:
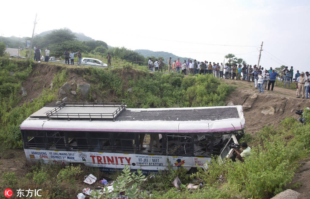
{"label": "barred window opening directly above the red-and-yellow emblem on the bus", "polygon": [[167,155],[192,155],[192,138],[189,135],[167,134],[165,137]]}

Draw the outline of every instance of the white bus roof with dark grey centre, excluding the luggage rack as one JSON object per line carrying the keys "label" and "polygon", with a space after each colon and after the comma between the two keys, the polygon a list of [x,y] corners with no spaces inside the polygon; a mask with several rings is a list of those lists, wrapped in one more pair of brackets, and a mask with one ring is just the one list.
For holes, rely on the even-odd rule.
{"label": "white bus roof with dark grey centre, excluding the luggage rack", "polygon": [[127,108],[111,119],[55,119],[29,117],[20,129],[108,132],[218,132],[241,130],[242,106],[196,108]]}

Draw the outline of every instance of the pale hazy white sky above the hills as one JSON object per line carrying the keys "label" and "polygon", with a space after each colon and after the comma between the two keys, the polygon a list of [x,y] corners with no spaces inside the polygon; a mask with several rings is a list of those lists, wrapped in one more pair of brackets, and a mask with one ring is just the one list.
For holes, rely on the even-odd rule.
{"label": "pale hazy white sky above the hills", "polygon": [[308,0],[2,1],[2,36],[69,28],[110,46],[165,51],[227,62],[228,53],[257,65],[309,71]]}

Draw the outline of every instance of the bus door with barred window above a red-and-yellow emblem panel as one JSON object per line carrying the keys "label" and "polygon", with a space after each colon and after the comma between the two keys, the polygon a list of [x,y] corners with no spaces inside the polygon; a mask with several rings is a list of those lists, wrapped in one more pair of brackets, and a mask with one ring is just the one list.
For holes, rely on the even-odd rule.
{"label": "bus door with barred window above a red-and-yellow emblem panel", "polygon": [[166,153],[174,169],[185,167],[189,170],[193,166],[192,137],[184,134],[166,134]]}

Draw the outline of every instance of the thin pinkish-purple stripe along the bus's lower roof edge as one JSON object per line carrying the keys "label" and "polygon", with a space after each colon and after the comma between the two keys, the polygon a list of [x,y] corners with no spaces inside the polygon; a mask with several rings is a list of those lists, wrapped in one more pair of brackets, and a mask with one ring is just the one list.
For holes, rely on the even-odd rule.
{"label": "thin pinkish-purple stripe along the bus's lower roof edge", "polygon": [[66,129],[66,128],[32,128],[21,127],[21,130],[60,130],[60,131],[125,131],[125,132],[212,132],[212,131],[228,131],[228,130],[240,130],[240,127],[229,127],[220,129],[184,129],[184,130],[158,130],[158,129]]}

